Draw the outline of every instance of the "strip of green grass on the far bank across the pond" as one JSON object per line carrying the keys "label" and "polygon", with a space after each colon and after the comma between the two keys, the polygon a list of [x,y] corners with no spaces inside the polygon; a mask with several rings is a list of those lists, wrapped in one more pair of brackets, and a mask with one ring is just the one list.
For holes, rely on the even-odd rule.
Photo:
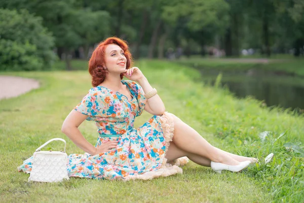
{"label": "strip of green grass on the far bank across the pond", "polygon": [[[299,58],[271,58],[268,63],[262,63],[259,58],[183,58],[176,61],[179,64],[196,67],[197,69],[239,71],[250,69],[274,72],[277,74],[304,77],[304,59]],[[267,60],[267,59],[265,59]]]}

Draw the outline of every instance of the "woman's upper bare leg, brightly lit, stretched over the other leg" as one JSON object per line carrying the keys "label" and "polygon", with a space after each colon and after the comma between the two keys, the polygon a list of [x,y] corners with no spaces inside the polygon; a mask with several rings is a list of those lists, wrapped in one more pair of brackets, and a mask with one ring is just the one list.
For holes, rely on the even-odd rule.
{"label": "woman's upper bare leg, brightly lit, stretched over the other leg", "polygon": [[[239,161],[235,158],[243,161],[238,157],[238,155],[231,157],[233,154],[213,147],[192,127],[182,122],[175,115],[170,115],[172,115],[174,119],[173,143],[186,154],[198,155],[199,157],[205,157],[210,161],[228,165],[238,165]],[[251,160],[251,158],[248,158],[247,160]]]}

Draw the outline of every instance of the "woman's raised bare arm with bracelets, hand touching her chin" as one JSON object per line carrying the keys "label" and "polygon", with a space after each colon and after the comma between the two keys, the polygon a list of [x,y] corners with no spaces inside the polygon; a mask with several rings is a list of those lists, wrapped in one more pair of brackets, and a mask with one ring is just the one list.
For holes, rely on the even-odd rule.
{"label": "woman's raised bare arm with bracelets, hand touching her chin", "polygon": [[[138,69],[138,67],[132,67],[131,69],[126,70],[124,76],[129,80],[138,82],[145,94],[153,90],[153,87],[151,87],[148,80]],[[147,99],[144,110],[153,115],[162,115],[166,111],[165,105],[158,94]]]}

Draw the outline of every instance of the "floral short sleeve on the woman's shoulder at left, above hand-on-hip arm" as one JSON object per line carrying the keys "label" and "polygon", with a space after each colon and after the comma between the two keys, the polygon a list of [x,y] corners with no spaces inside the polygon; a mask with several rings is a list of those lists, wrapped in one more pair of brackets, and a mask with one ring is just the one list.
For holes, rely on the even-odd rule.
{"label": "floral short sleeve on the woman's shoulder at left, above hand-on-hip arm", "polygon": [[82,99],[74,110],[88,115],[87,120],[95,120],[94,117],[100,115],[104,108],[102,95],[97,91],[89,91],[89,93]]}

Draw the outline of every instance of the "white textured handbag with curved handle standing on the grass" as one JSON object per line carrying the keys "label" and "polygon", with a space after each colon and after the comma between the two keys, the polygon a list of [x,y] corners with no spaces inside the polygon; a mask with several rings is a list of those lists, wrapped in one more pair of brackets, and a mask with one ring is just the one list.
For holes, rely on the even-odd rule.
{"label": "white textured handbag with curved handle standing on the grass", "polygon": [[[41,148],[55,140],[64,142],[64,151],[41,151]],[[68,180],[65,147],[65,140],[54,138],[37,148],[33,154],[32,170],[28,181],[59,182],[63,179]]]}

